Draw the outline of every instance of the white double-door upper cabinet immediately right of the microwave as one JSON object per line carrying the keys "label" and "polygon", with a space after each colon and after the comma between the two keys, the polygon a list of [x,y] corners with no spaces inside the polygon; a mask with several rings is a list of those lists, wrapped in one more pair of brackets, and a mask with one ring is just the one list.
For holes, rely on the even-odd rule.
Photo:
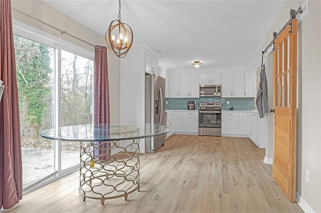
{"label": "white double-door upper cabinet immediately right of the microwave", "polygon": [[244,71],[222,72],[222,97],[244,97]]}

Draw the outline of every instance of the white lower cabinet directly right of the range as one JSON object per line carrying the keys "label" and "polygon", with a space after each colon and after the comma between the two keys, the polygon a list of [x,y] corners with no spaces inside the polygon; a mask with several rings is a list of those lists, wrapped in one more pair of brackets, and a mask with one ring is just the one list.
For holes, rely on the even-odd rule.
{"label": "white lower cabinet directly right of the range", "polygon": [[238,112],[222,112],[222,134],[238,134]]}

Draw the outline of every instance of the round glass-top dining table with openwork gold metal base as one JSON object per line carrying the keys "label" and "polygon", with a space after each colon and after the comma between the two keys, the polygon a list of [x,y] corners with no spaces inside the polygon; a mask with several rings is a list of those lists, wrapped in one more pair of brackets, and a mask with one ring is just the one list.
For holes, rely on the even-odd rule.
{"label": "round glass-top dining table with openwork gold metal base", "polygon": [[140,138],[170,130],[148,123],[102,123],[52,128],[40,135],[53,140],[80,141],[79,192],[82,200],[100,199],[104,204],[105,199],[124,196],[127,200],[128,194],[139,191]]}

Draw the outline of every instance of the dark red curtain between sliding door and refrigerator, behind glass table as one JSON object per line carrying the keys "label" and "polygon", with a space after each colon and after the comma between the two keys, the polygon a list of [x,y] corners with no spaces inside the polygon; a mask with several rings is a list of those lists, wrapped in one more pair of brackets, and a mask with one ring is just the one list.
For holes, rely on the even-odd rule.
{"label": "dark red curtain between sliding door and refrigerator, behind glass table", "polygon": [[[94,61],[94,124],[109,122],[107,47],[97,46],[95,48]],[[108,127],[109,125],[107,125]],[[107,141],[96,141],[94,144],[95,160],[109,159],[110,143]]]}

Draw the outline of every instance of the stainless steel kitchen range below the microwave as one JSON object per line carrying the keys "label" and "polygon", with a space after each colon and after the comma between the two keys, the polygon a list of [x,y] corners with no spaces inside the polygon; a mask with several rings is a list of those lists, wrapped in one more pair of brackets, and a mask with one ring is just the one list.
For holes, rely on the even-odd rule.
{"label": "stainless steel kitchen range below the microwave", "polygon": [[201,102],[199,135],[221,136],[221,102]]}

